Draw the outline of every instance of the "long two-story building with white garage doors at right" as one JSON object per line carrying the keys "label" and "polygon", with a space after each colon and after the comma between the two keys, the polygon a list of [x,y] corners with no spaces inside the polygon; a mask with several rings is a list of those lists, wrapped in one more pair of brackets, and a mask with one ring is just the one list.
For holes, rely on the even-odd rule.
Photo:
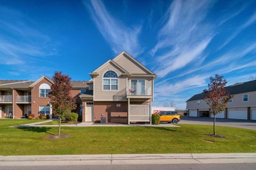
{"label": "long two-story building with white garage doors at right", "polygon": [[[234,97],[227,103],[225,111],[222,111],[216,117],[256,120],[256,80],[236,83],[225,88]],[[213,117],[210,115],[210,108],[204,98],[205,94],[200,93],[192,96],[187,101],[189,116]]]}

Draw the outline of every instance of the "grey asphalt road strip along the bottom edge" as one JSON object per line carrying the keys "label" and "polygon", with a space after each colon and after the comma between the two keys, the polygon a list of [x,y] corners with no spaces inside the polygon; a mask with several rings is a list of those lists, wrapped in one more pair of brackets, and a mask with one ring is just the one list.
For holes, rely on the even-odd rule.
{"label": "grey asphalt road strip along the bottom edge", "polygon": [[1,170],[247,170],[255,169],[256,164],[165,164],[165,165],[79,165],[79,166],[9,166]]}

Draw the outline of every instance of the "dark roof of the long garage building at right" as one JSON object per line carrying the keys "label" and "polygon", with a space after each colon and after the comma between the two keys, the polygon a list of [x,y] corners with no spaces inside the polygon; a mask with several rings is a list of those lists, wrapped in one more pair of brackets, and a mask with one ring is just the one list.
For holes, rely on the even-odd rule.
{"label": "dark roof of the long garage building at right", "polygon": [[[247,92],[255,92],[256,91],[256,80],[244,82],[244,83],[235,83],[234,85],[225,87],[225,89],[230,94],[241,94],[241,93],[247,93]],[[195,94],[190,99],[188,99],[187,102],[193,101],[193,100],[202,100],[204,98],[205,98],[204,93]]]}

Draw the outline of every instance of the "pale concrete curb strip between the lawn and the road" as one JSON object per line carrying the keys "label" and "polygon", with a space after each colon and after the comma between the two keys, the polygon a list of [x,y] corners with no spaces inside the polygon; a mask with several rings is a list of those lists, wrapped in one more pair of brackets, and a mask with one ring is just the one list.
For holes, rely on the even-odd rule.
{"label": "pale concrete curb strip between the lawn and the road", "polygon": [[0,156],[1,166],[256,163],[256,153]]}

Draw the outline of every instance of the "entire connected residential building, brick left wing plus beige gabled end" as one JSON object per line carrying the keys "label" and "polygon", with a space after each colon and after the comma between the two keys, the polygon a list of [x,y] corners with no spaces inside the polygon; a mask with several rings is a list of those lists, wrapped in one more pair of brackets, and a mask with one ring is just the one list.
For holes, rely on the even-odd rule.
{"label": "entire connected residential building, brick left wing plus beige gabled end", "polygon": [[[130,54],[122,52],[90,73],[89,82],[71,81],[76,112],[82,122],[150,122],[154,100],[154,72]],[[53,117],[48,94],[51,78],[33,81],[0,80],[0,118],[21,118],[29,114]]]}

